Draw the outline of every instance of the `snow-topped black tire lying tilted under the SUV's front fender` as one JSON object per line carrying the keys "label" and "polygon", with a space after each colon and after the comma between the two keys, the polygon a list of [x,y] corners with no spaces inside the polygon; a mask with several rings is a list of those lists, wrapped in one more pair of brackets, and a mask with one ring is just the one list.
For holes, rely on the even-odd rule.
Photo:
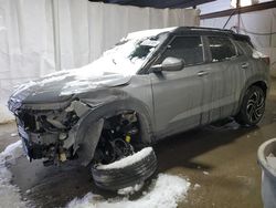
{"label": "snow-topped black tire lying tilted under the SUV's front fender", "polygon": [[151,147],[108,165],[92,167],[96,186],[118,190],[148,179],[157,169],[157,157]]}

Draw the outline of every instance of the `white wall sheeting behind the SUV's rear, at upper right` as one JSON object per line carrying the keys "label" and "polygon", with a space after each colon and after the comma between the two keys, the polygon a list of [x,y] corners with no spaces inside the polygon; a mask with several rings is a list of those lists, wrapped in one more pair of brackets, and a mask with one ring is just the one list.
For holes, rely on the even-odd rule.
{"label": "white wall sheeting behind the SUV's rear, at upper right", "polygon": [[[201,20],[201,27],[223,28],[227,19],[229,17],[204,19]],[[242,13],[240,21],[240,32],[250,35],[256,49],[270,58],[270,72],[276,76],[276,8]],[[236,25],[237,15],[233,15],[225,29]],[[252,32],[266,34],[259,35]]]}

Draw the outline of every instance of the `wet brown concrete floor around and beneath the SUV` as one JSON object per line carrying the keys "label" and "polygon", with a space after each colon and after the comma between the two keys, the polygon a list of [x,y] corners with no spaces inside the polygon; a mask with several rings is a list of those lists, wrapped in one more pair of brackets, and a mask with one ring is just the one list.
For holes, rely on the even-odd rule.
{"label": "wet brown concrete floor around and beneath the SUV", "polygon": [[[15,132],[13,123],[0,125],[0,150],[19,139],[11,137]],[[167,138],[155,146],[159,173],[185,176],[192,185],[200,185],[190,189],[179,207],[259,208],[263,205],[256,154],[258,146],[273,137],[276,137],[275,80],[258,127],[242,128],[229,121]],[[40,160],[30,164],[24,157],[10,168],[13,184],[36,207],[64,206],[88,191],[114,196],[93,185],[88,168],[43,167]]]}

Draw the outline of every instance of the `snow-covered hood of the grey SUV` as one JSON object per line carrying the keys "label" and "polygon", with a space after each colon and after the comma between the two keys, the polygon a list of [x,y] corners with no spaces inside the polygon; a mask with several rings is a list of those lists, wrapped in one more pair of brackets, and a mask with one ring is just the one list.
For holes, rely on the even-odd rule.
{"label": "snow-covered hood of the grey SUV", "polygon": [[26,104],[62,102],[74,94],[127,84],[130,79],[130,74],[110,70],[66,70],[22,84],[12,94],[11,100]]}

